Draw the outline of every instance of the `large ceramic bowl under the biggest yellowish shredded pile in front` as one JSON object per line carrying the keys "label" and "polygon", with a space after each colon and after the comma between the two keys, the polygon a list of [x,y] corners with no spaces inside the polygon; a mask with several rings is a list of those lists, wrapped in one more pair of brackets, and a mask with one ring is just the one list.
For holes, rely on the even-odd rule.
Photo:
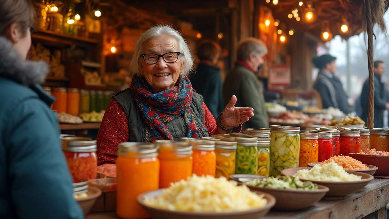
{"label": "large ceramic bowl under the biggest yellowish shredded pile in front", "polygon": [[147,213],[151,215],[153,219],[258,219],[267,214],[275,205],[274,196],[262,193],[259,191],[253,191],[258,195],[264,194],[264,198],[267,200],[267,204],[261,208],[253,208],[246,211],[237,211],[237,212],[185,212],[185,211],[171,211],[164,210],[159,208],[154,208],[144,203],[145,197],[156,197],[163,193],[163,189],[158,189],[146,193],[142,193],[137,197],[137,201],[140,206],[142,206]]}

